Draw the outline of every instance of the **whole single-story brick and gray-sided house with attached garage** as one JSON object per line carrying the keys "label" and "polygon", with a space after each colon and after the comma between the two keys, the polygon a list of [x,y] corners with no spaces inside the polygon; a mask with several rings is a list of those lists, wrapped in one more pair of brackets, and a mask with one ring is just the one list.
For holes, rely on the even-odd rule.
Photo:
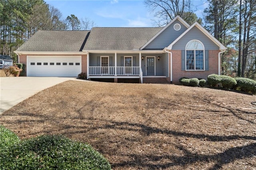
{"label": "whole single-story brick and gray-sided house with attached garage", "polygon": [[15,52],[27,76],[76,77],[114,82],[178,83],[180,77],[220,74],[226,47],[197,22],[177,16],[164,28],[92,28],[38,31]]}

